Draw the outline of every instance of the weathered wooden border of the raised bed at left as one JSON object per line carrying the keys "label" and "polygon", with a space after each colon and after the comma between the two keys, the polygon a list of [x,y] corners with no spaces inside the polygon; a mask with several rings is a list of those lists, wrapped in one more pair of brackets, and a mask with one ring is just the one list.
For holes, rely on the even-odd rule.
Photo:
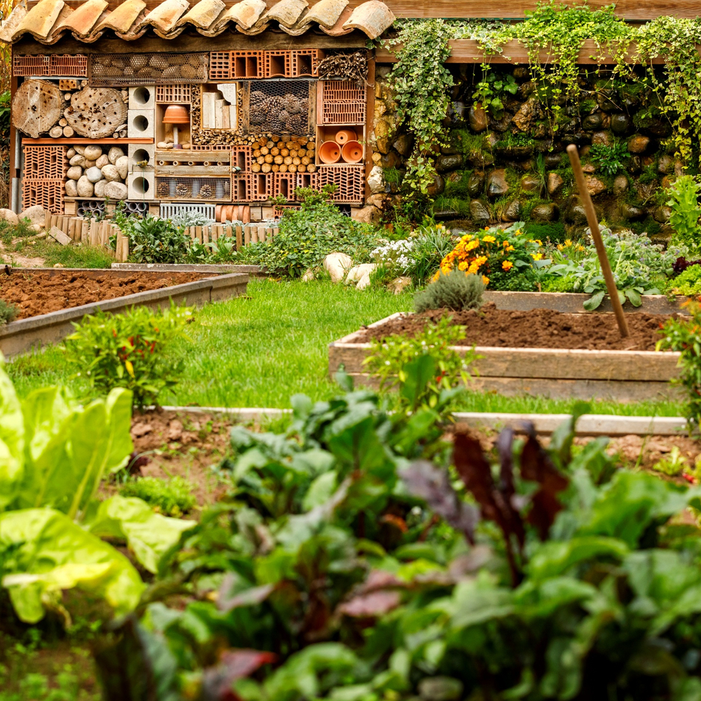
{"label": "weathered wooden border of the raised bed at left", "polygon": [[[67,268],[14,268],[14,272],[52,271],[53,273],[71,272]],[[127,277],[129,271],[111,271],[100,268],[81,270],[97,274],[111,273],[116,278]],[[161,277],[163,273],[154,273]],[[182,283],[163,287],[160,290],[147,290],[126,294],[116,299],[104,299],[91,304],[62,309],[48,314],[32,316],[28,319],[13,321],[0,327],[0,351],[8,357],[24,353],[32,348],[41,348],[48,343],[56,343],[74,330],[72,322],[79,322],[83,317],[94,314],[98,309],[115,314],[123,313],[132,306],[147,306],[151,309],[161,309],[175,304],[194,304],[203,306],[210,301],[230,299],[246,294],[248,275],[246,273],[231,273],[229,275],[214,275],[211,278],[195,280],[192,283]]]}

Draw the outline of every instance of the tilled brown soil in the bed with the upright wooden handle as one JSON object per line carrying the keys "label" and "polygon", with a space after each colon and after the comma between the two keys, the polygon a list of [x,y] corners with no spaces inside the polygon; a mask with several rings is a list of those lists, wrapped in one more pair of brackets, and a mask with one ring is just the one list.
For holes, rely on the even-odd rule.
{"label": "tilled brown soil in the bed with the upright wooden handle", "polygon": [[660,327],[667,320],[661,314],[627,315],[630,335],[622,339],[613,314],[565,314],[550,309],[505,311],[494,304],[478,310],[447,312],[434,309],[395,319],[372,329],[365,328],[355,342],[384,339],[394,334],[415,336],[428,322],[449,315],[454,324],[465,326],[465,346],[500,348],[581,348],[587,351],[654,351]]}

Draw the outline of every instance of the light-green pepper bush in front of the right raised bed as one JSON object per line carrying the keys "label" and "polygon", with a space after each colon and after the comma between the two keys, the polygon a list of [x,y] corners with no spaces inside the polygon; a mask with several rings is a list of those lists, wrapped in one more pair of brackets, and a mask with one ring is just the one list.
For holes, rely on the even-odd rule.
{"label": "light-green pepper bush in front of the right raised bed", "polygon": [[[470,379],[468,368],[477,356],[469,351],[461,358],[452,347],[464,338],[465,327],[443,317],[437,324],[427,323],[416,336],[375,339],[363,366],[379,379],[381,390],[398,390],[393,400],[400,411],[414,410],[416,405],[433,408],[442,401],[442,393],[465,386]],[[414,387],[413,370],[423,374],[420,391]]]}

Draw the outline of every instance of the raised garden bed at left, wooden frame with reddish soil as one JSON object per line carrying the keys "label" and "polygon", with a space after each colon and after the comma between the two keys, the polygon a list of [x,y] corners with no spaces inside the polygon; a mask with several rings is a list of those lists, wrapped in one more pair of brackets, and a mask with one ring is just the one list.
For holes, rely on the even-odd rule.
{"label": "raised garden bed at left, wooden frame with reddish soil", "polygon": [[[248,275],[113,271],[109,269],[13,268],[0,278],[0,298],[18,304],[20,319],[0,327],[0,351],[17,355],[55,343],[73,322],[97,309],[121,313],[132,306],[202,306],[246,293]],[[22,299],[26,297],[27,299]]]}

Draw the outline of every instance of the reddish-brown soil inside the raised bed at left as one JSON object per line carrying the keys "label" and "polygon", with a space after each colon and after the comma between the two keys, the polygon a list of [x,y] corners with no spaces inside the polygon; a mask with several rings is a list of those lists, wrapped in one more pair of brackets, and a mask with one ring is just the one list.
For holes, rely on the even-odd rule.
{"label": "reddish-brown soil inside the raised bed at left", "polygon": [[135,292],[191,283],[207,277],[202,273],[144,273],[129,275],[73,271],[0,275],[0,298],[19,308],[18,319],[48,314],[81,304],[116,299]]}

